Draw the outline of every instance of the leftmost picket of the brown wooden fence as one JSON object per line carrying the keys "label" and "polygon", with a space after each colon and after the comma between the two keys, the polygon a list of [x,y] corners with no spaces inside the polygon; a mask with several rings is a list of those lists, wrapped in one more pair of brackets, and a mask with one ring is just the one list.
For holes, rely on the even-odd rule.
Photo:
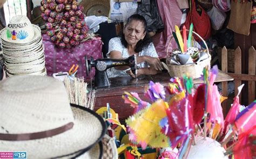
{"label": "leftmost picket of the brown wooden fence", "polygon": [[[224,46],[221,49],[221,70],[224,73],[227,73],[227,48]],[[227,97],[228,96],[228,92],[227,92],[227,82],[221,82],[221,90],[222,90],[222,95]],[[223,113],[224,115],[227,114],[229,107],[227,105],[227,100],[224,100],[222,103],[222,107],[223,107]]]}

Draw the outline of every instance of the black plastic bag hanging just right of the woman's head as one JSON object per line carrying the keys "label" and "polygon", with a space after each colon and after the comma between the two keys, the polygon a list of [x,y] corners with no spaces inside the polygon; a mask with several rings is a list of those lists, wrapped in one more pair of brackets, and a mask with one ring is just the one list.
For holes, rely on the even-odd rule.
{"label": "black plastic bag hanging just right of the woman's head", "polygon": [[164,30],[164,23],[159,15],[156,0],[144,0],[138,5],[137,10],[147,21],[147,32],[160,33]]}

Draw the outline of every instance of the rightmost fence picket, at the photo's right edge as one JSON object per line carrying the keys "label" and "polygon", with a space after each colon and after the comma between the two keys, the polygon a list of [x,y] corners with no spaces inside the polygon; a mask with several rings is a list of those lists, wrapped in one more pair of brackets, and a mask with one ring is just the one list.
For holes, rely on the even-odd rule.
{"label": "rightmost fence picket, at the photo's right edge", "polygon": [[[253,46],[250,47],[248,53],[248,74],[255,75],[256,51]],[[255,81],[248,81],[248,104],[255,99]]]}

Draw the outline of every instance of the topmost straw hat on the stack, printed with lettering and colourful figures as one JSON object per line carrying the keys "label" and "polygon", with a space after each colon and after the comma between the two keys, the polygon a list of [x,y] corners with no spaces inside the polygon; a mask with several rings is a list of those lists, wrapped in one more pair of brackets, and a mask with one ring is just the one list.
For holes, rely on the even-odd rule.
{"label": "topmost straw hat on the stack, printed with lettering and colourful figures", "polygon": [[26,16],[14,16],[8,26],[1,31],[1,38],[14,44],[26,44],[40,37],[41,31],[38,28],[37,25],[31,24]]}

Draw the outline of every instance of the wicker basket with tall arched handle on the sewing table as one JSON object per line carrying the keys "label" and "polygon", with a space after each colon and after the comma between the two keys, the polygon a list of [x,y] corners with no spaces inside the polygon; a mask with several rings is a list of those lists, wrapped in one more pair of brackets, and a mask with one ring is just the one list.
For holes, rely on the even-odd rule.
{"label": "wicker basket with tall arched handle on the sewing table", "polygon": [[[189,32],[189,31],[187,30],[187,32]],[[168,58],[169,46],[171,44],[171,40],[170,40],[168,47],[167,47],[166,65],[169,68],[169,75],[171,77],[182,77],[185,74],[189,74],[190,77],[192,77],[193,79],[199,78],[203,72],[204,67],[206,67],[206,66],[210,67],[211,55],[209,53],[209,49],[206,45],[206,42],[196,32],[193,32],[193,34],[197,35],[197,37],[204,42],[204,45],[206,46],[206,50],[207,50],[206,53],[208,54],[208,59],[205,59],[203,61],[200,61],[200,62],[194,63],[194,64],[185,64],[185,65],[170,64],[170,58]]]}

